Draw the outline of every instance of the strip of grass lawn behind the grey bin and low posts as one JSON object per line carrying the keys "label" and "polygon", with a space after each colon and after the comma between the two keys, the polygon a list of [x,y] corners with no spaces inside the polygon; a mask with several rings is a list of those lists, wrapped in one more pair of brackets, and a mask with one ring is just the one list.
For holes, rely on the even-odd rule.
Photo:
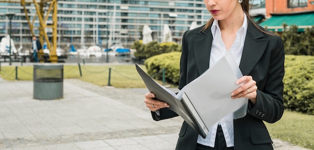
{"label": "strip of grass lawn behind the grey bin and low posts", "polygon": [[[144,70],[145,67],[141,66]],[[109,68],[111,68],[110,85],[116,88],[139,88],[145,87],[144,82],[138,75],[135,65],[115,66],[83,66],[81,65],[82,77],[78,65],[64,66],[64,78],[78,78],[99,86],[107,86],[109,82]],[[0,75],[5,80],[15,80],[15,66],[2,66]],[[18,80],[33,80],[33,66],[19,66]]]}

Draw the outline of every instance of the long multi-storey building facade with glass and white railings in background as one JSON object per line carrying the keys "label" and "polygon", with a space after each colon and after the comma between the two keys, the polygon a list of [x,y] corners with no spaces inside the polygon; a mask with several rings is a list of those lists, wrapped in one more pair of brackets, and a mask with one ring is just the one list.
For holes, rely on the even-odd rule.
{"label": "long multi-storey building facade with glass and white railings in background", "polygon": [[[36,10],[27,7],[30,20]],[[254,1],[255,14],[265,13],[265,0]],[[260,11],[261,9],[261,11]],[[47,8],[48,10],[48,8]],[[31,42],[31,32],[19,3],[0,3],[0,37],[8,35],[7,12],[15,12],[12,20],[12,38],[16,45]],[[254,12],[254,11],[253,11]],[[154,41],[161,42],[164,24],[168,24],[174,42],[181,43],[182,35],[192,22],[205,24],[211,17],[203,0],[63,0],[58,1],[58,47],[73,44],[104,46],[121,44],[124,47],[142,38],[142,28],[148,25]],[[48,18],[49,22],[51,18]],[[38,19],[35,26],[39,27]],[[34,31],[38,36],[39,31]],[[51,30],[46,29],[48,35]]]}

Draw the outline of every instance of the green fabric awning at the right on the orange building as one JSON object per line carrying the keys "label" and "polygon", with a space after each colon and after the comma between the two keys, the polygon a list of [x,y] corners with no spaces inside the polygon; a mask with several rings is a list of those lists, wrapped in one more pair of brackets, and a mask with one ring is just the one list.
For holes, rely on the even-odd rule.
{"label": "green fabric awning at the right on the orange building", "polygon": [[304,32],[305,28],[312,28],[314,26],[314,12],[303,14],[285,14],[272,15],[270,19],[262,22],[260,26],[271,31],[281,32],[283,30],[282,24],[285,23],[290,28],[291,25],[298,26],[299,32]]}

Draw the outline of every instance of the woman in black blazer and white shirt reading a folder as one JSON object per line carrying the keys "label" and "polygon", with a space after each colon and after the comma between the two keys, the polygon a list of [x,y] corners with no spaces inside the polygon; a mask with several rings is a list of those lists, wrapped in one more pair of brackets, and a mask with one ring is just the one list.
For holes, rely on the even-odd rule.
{"label": "woman in black blazer and white shirt reading a folder", "polygon": [[[234,100],[247,97],[249,105],[246,116],[225,116],[209,128],[206,138],[183,122],[176,149],[273,149],[263,121],[274,123],[283,114],[282,40],[252,21],[249,0],[204,0],[204,4],[212,19],[183,35],[179,89],[231,51],[244,76],[230,96]],[[154,97],[147,93],[144,100],[154,120],[178,116],[168,109],[169,104]]]}

